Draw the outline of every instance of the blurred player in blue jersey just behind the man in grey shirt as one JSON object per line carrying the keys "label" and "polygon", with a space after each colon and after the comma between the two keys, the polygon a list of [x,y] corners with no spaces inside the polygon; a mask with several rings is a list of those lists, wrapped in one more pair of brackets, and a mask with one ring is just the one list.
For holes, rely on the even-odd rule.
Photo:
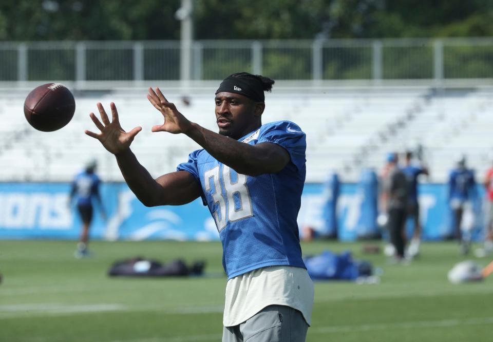
{"label": "blurred player in blue jersey just behind the man in grey shirt", "polygon": [[412,219],[413,224],[413,236],[407,249],[407,255],[411,258],[418,256],[420,253],[421,223],[420,205],[418,201],[418,177],[420,175],[429,175],[428,168],[421,165],[420,158],[418,158],[420,163],[413,163],[413,157],[412,151],[407,151],[404,166],[402,167],[409,185],[407,215],[408,218]]}

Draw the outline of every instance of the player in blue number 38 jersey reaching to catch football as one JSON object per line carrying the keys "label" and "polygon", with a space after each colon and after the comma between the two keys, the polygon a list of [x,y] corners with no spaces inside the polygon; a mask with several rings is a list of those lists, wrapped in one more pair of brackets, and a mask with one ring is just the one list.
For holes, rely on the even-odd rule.
{"label": "player in blue number 38 jersey reaching to catch football", "polygon": [[216,91],[219,133],[189,121],[159,88],[148,100],[164,123],[153,132],[184,134],[202,149],[176,172],[156,179],[130,144],[142,129],[125,132],[114,103],[112,120],[98,103],[100,133],[90,137],[116,156],[130,189],[147,206],[180,205],[201,198],[213,216],[227,275],[223,341],[304,341],[313,283],[301,258],[296,218],[306,175],[306,136],[290,121],[262,124],[264,91],[274,81],[247,72],[225,78]]}

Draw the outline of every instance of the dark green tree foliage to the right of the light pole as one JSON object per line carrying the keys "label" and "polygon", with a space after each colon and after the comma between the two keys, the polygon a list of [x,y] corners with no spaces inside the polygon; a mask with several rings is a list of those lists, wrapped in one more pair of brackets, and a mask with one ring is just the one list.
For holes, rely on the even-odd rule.
{"label": "dark green tree foliage to the right of the light pole", "polygon": [[195,23],[198,39],[485,36],[492,13],[489,0],[199,0]]}

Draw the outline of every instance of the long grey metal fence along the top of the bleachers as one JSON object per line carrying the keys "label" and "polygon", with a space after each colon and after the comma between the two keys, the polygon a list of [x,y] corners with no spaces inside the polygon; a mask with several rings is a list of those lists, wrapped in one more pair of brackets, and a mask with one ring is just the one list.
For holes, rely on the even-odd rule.
{"label": "long grey metal fence along the top of the bleachers", "polygon": [[[179,41],[2,42],[2,81],[180,79]],[[493,79],[493,38],[195,41],[192,79],[236,71],[276,80]]]}

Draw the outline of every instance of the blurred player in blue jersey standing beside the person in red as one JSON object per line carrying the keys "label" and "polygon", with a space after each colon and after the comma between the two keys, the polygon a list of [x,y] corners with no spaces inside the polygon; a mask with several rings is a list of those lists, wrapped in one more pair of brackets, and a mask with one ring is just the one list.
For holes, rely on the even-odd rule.
{"label": "blurred player in blue jersey standing beside the person in red", "polygon": [[452,211],[454,238],[458,239],[463,254],[469,253],[471,239],[470,229],[463,227],[463,215],[465,211],[472,210],[472,201],[476,197],[474,170],[467,168],[466,156],[461,155],[449,174],[448,203]]}

